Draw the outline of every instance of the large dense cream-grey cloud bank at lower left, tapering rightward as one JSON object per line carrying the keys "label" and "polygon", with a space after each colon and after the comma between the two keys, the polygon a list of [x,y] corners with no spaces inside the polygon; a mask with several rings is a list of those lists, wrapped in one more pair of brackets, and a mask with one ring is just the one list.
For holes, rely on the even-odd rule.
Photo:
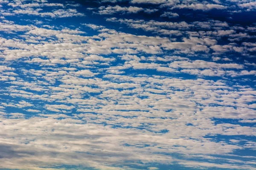
{"label": "large dense cream-grey cloud bank at lower left, tapering rightward", "polygon": [[[78,116],[84,117],[85,115]],[[93,115],[87,114],[86,117],[88,116]],[[161,136],[154,135],[148,138],[148,134],[143,135],[136,129],[132,130],[133,133],[131,133],[131,130],[128,129],[119,130],[96,124],[87,125],[79,119],[70,118],[70,116],[64,116],[62,119],[59,119],[61,117],[62,115],[55,115],[54,117],[44,115],[44,117],[23,119],[22,123],[18,123],[19,120],[10,121],[8,119],[2,119],[2,121],[5,122],[5,127],[12,131],[12,135],[8,138],[8,140],[10,140],[12,136],[26,136],[26,138],[19,138],[19,141],[13,142],[12,144],[2,143],[6,146],[6,148],[12,150],[12,152],[8,152],[10,153],[9,156],[3,154],[2,156],[5,156],[5,159],[12,161],[2,162],[1,166],[19,166],[26,168],[33,164],[34,167],[41,167],[47,166],[47,164],[49,164],[49,160],[51,160],[51,164],[65,163],[80,164],[84,166],[86,166],[86,164],[90,164],[93,167],[104,169],[104,167],[101,167],[101,164],[97,163],[97,160],[107,162],[107,166],[111,167],[111,164],[123,159],[129,159],[131,161],[135,161],[137,159],[141,160],[141,151],[148,153],[143,158],[144,162],[151,161],[152,158],[161,162],[172,161],[172,157],[154,154],[152,151],[147,150],[146,147],[140,147],[137,146],[137,144],[134,146],[124,146],[123,144],[119,143],[120,140],[127,138],[128,136],[132,137],[126,141],[129,145],[138,141],[147,142],[148,144],[154,142],[158,143],[159,145],[166,145],[167,143],[172,142],[175,145],[184,145],[187,147],[192,145],[195,146],[195,144],[200,143],[191,139],[166,139],[164,134]],[[42,125],[44,125],[44,128]],[[38,136],[36,140],[34,139],[35,135]],[[26,144],[20,144],[19,142],[26,142]],[[221,144],[207,141],[205,141],[204,144],[206,145],[204,149],[207,147],[216,147],[215,145],[221,147],[220,149],[222,149],[222,151],[215,150],[215,153],[228,152],[232,148],[239,148],[228,144],[222,146]],[[70,147],[64,147],[64,145],[68,145]],[[104,148],[104,151],[99,152],[96,148]],[[177,148],[175,149],[174,147],[173,149],[174,152],[176,152],[175,150],[177,150]],[[126,152],[127,150],[130,150],[130,152]],[[201,153],[205,151],[210,152],[209,149],[206,149],[205,151],[201,149],[197,151],[194,149],[192,151],[183,150],[182,152],[187,151],[189,153]],[[48,154],[45,158],[46,153]],[[101,157],[99,157],[99,154]],[[35,156],[37,159],[35,159]],[[53,157],[58,159],[50,159]],[[27,159],[29,159],[31,163],[27,164]],[[213,165],[213,167],[215,166],[218,167],[218,165]],[[239,167],[243,168],[243,166]],[[250,168],[249,165],[248,167]]]}

